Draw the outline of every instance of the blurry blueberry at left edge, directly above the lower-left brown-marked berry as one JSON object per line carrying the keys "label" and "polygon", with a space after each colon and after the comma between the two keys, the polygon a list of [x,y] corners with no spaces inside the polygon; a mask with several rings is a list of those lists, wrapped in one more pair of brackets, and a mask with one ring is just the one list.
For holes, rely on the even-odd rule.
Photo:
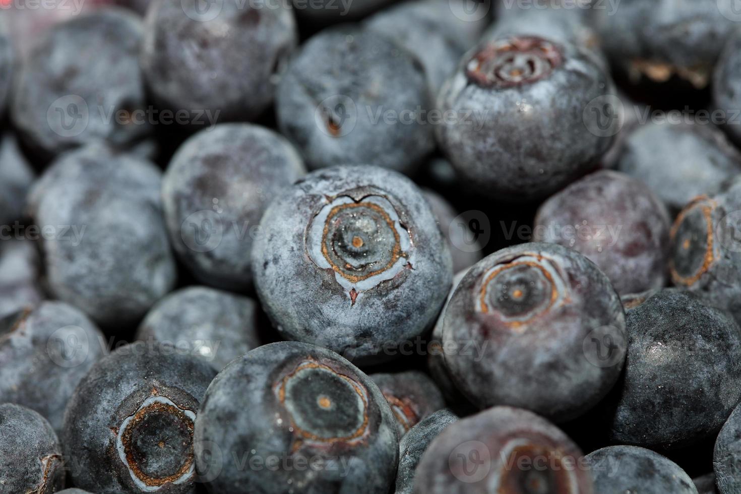
{"label": "blurry blueberry at left edge, directly above the lower-left brown-marked berry", "polygon": [[44,298],[40,270],[39,250],[33,241],[19,238],[0,241],[0,318]]}

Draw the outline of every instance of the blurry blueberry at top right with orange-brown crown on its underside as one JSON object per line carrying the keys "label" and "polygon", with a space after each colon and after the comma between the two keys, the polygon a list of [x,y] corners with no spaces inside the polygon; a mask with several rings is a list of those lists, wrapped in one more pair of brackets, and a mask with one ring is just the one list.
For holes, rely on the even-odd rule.
{"label": "blurry blueberry at top right with orange-brown crown on its underside", "polygon": [[617,15],[592,12],[605,53],[629,81],[683,81],[697,89],[708,85],[738,16],[732,0],[626,0]]}

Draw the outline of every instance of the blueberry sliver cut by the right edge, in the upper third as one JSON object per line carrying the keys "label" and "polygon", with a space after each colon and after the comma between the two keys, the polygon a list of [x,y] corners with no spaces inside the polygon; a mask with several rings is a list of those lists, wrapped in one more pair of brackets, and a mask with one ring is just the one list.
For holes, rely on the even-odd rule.
{"label": "blueberry sliver cut by the right edge, in the upper third", "polygon": [[[725,110],[728,119],[735,118],[741,108],[741,33],[728,38],[713,74],[713,103]],[[722,128],[737,144],[741,144],[741,126],[738,119]]]}

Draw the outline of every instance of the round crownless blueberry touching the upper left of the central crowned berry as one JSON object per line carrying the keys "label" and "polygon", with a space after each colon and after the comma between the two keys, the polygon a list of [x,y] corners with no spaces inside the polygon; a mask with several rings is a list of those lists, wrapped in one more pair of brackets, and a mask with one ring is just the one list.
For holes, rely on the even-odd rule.
{"label": "round crownless blueberry touching the upper left of the central crowned berry", "polygon": [[188,139],[162,180],[170,241],[196,278],[252,286],[250,251],[265,207],[305,173],[288,141],[250,124],[219,124]]}

